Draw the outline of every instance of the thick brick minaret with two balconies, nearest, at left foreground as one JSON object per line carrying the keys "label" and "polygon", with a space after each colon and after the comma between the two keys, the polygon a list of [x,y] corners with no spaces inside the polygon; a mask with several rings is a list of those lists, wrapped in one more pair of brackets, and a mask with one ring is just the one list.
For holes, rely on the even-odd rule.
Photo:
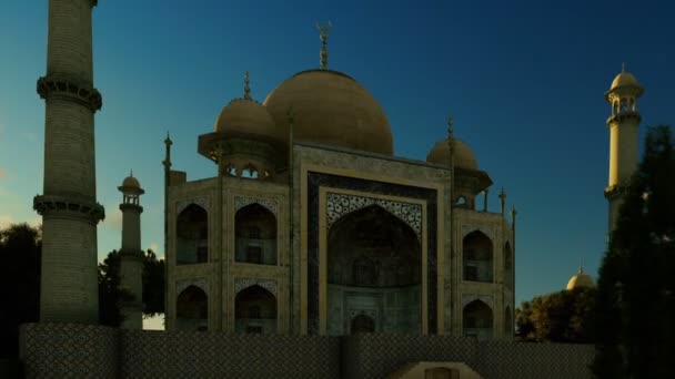
{"label": "thick brick minaret with two balconies, nearest, at left foreground", "polygon": [[38,80],[46,101],[44,187],[33,199],[42,215],[40,320],[99,320],[91,12],[97,0],[50,0],[47,75]]}

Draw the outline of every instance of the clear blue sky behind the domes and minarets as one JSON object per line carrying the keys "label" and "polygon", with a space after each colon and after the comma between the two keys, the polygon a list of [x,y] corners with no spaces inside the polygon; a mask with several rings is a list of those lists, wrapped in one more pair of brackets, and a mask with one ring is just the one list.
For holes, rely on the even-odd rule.
{"label": "clear blue sky behind the domes and minarets", "polygon": [[[0,3],[0,222],[39,222],[47,0]],[[413,7],[414,4],[414,7]],[[242,94],[262,101],[319,65],[316,21],[331,20],[330,68],[374,94],[397,156],[424,160],[449,113],[518,209],[516,300],[563,288],[580,259],[596,275],[605,245],[609,105],[626,62],[644,84],[644,125],[675,123],[674,6],[668,1],[138,1],[94,9],[99,257],[120,245],[117,186],[133,168],[143,247],[163,255],[163,139],[190,180],[213,176],[199,134]]]}

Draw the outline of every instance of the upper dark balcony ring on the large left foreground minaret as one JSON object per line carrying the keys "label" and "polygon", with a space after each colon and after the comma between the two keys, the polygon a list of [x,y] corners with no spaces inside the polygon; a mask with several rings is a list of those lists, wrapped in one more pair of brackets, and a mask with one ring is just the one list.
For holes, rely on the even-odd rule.
{"label": "upper dark balcony ring on the large left foreground minaret", "polygon": [[72,100],[89,107],[92,113],[103,106],[103,99],[97,89],[71,79],[54,75],[41,76],[38,79],[38,93],[44,100]]}

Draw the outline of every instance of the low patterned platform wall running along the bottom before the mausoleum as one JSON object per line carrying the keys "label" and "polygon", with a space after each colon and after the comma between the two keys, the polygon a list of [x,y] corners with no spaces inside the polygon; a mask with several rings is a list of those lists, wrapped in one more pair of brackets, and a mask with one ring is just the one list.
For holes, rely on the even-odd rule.
{"label": "low patterned platform wall running along the bottom before the mausoleum", "polygon": [[465,362],[486,379],[591,378],[594,347],[452,336],[345,337],[21,326],[28,378],[385,378],[417,361]]}

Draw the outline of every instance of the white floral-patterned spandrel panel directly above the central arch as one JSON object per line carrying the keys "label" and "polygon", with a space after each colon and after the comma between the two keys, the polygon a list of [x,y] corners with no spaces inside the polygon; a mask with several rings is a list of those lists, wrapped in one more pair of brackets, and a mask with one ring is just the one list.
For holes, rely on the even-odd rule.
{"label": "white floral-patterned spandrel panel directly above the central arch", "polygon": [[422,205],[330,192],[326,193],[325,207],[329,229],[347,214],[371,205],[377,205],[399,217],[415,232],[419,240],[422,239]]}

